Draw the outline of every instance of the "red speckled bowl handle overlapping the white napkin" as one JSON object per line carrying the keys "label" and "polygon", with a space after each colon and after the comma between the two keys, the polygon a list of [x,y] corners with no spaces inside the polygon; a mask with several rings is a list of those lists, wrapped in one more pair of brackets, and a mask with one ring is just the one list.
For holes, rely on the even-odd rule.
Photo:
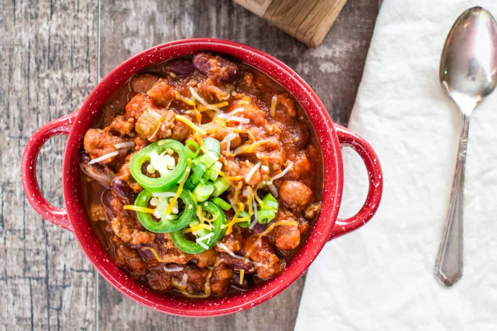
{"label": "red speckled bowl handle overlapping the white napkin", "polygon": [[352,147],[364,161],[368,171],[369,191],[362,208],[354,216],[345,219],[336,219],[335,225],[331,230],[330,239],[328,240],[334,239],[366,224],[378,209],[383,192],[383,178],[380,161],[371,145],[364,140],[364,138],[357,135],[357,133],[342,126],[335,124],[335,129],[340,144]]}

